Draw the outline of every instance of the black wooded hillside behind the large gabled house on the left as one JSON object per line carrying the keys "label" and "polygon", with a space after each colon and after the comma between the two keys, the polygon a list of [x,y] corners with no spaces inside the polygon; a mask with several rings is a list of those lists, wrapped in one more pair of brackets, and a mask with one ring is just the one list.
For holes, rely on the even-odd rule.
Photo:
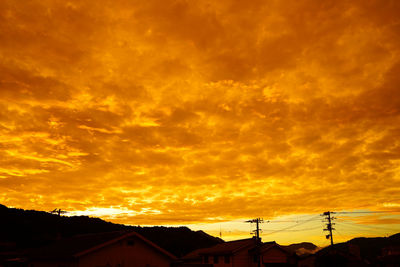
{"label": "black wooded hillside behind the large gabled house on the left", "polygon": [[0,250],[38,247],[78,234],[136,231],[176,256],[222,242],[187,227],[140,227],[114,224],[88,216],[58,216],[44,211],[7,208],[0,204]]}

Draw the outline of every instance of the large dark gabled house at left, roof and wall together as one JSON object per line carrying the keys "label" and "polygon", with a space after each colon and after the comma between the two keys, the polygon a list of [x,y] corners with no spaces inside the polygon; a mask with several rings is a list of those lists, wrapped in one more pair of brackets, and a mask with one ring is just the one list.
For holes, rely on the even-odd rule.
{"label": "large dark gabled house at left, roof and wall together", "polygon": [[[140,234],[78,235],[26,253],[27,267],[170,267],[176,257]],[[10,261],[11,263],[11,261]],[[11,265],[11,264],[10,264]]]}

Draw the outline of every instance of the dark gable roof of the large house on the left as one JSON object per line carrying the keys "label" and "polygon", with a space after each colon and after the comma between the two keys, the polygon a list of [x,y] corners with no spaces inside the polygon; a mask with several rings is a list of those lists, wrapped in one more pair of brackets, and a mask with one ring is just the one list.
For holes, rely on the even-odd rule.
{"label": "dark gable roof of the large house on the left", "polygon": [[44,260],[73,260],[103,247],[114,244],[130,236],[135,236],[141,239],[144,243],[146,243],[156,251],[164,254],[168,258],[176,259],[174,255],[172,255],[165,249],[159,247],[150,240],[144,238],[142,235],[133,231],[114,231],[106,233],[78,235],[56,241],[49,246],[33,249],[28,252],[28,257]]}

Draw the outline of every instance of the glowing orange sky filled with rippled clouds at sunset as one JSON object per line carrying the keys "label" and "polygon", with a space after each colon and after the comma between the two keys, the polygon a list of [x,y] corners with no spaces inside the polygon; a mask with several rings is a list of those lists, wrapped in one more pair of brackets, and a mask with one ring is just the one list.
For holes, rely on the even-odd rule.
{"label": "glowing orange sky filled with rippled clouds at sunset", "polygon": [[390,211],[346,220],[394,233],[398,14],[396,0],[0,1],[0,203],[227,239],[252,218]]}

